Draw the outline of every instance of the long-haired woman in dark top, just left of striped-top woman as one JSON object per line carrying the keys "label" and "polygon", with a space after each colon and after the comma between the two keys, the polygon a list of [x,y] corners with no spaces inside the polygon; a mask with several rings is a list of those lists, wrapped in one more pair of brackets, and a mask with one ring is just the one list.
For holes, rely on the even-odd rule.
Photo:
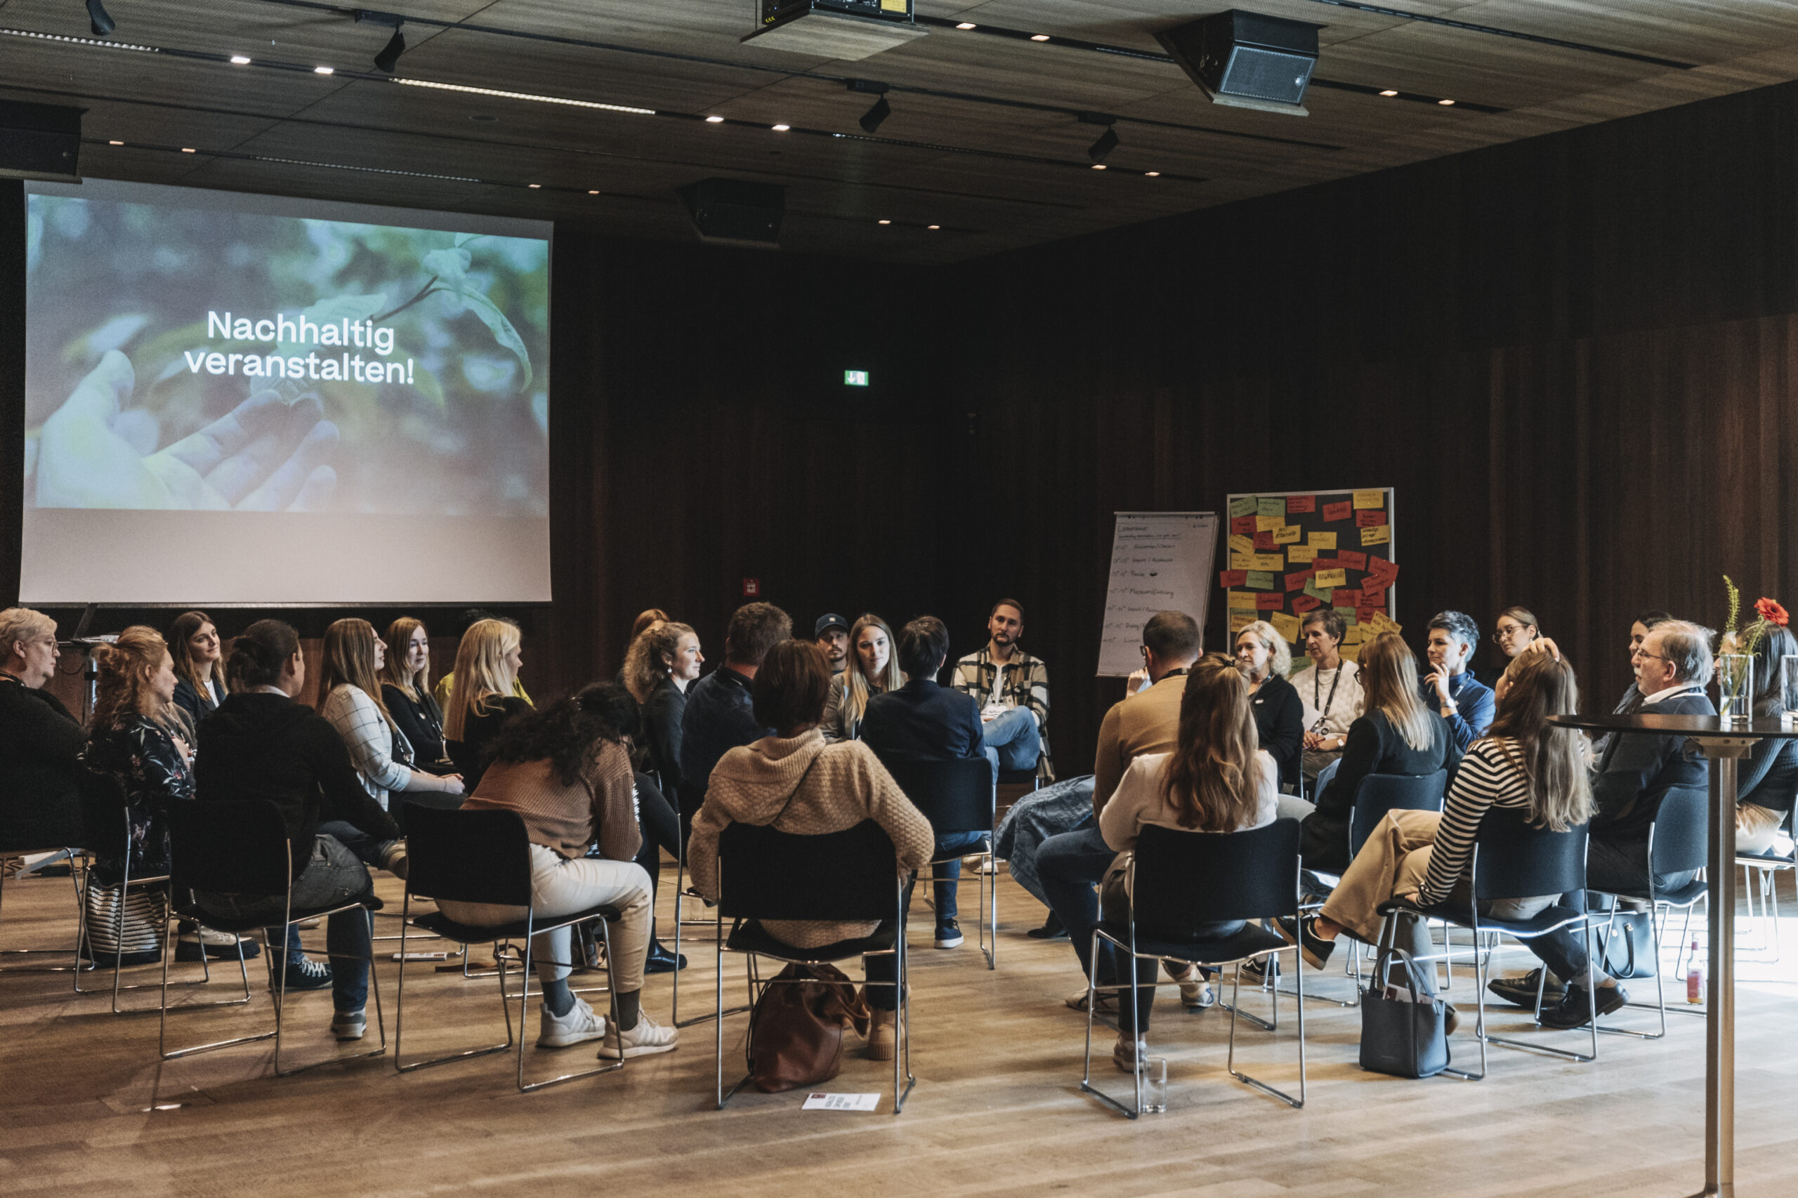
{"label": "long-haired woman in dark top, just left of striped-top woman", "polygon": [[1366,714],[1348,725],[1341,766],[1318,795],[1316,808],[1291,795],[1280,815],[1305,820],[1300,849],[1305,867],[1327,874],[1348,869],[1348,818],[1368,773],[1424,775],[1460,759],[1449,725],[1424,707],[1417,693],[1417,658],[1399,633],[1381,633],[1361,648],[1357,675]]}

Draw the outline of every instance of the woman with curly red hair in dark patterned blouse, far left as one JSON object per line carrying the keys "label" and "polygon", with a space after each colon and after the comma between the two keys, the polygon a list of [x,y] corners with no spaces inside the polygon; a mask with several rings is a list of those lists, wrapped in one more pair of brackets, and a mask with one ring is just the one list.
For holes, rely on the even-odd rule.
{"label": "woman with curly red hair in dark patterned blouse, far left", "polygon": [[[85,759],[95,770],[115,773],[124,782],[126,811],[131,826],[128,844],[120,844],[117,826],[97,831],[92,887],[117,887],[126,878],[156,878],[169,872],[171,802],[194,797],[192,748],[171,707],[174,700],[174,658],[162,633],[133,624],[119,633],[113,644],[95,649],[99,680],[93,696],[93,732]],[[126,860],[124,854],[129,854]],[[162,926],[106,926],[126,912],[124,903],[108,905],[102,917],[90,907],[88,939],[111,964],[149,964],[162,961]],[[99,926],[95,926],[99,925]],[[160,925],[160,917],[158,917]],[[122,952],[126,944],[138,948]],[[237,953],[239,937],[183,925],[174,944],[176,961],[225,957]],[[243,941],[243,955],[255,957],[261,948]]]}

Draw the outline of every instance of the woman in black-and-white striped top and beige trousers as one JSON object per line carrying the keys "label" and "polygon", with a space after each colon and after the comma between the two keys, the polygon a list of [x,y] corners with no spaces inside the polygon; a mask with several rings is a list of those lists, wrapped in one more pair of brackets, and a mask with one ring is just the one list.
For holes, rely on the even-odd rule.
{"label": "woman in black-and-white striped top and beige trousers", "polygon": [[[1404,898],[1420,907],[1465,903],[1471,898],[1474,835],[1491,808],[1527,811],[1532,826],[1553,831],[1584,824],[1591,817],[1586,738],[1575,729],[1548,723],[1550,716],[1577,712],[1579,684],[1570,664],[1548,653],[1512,658],[1500,678],[1498,716],[1489,734],[1469,747],[1442,811],[1390,811],[1361,845],[1322,914],[1302,928],[1286,925],[1280,934],[1298,943],[1305,961],[1322,970],[1345,932],[1370,944],[1379,943],[1377,910],[1386,899]],[[1543,894],[1482,905],[1482,912],[1496,919],[1528,919],[1557,899],[1555,894]],[[1433,952],[1428,926],[1410,916],[1401,919],[1395,944],[1413,955]],[[1543,1009],[1543,1024],[1584,1027],[1591,1018],[1584,932],[1562,928],[1523,944],[1568,980],[1561,1004]],[[1419,970],[1419,980],[1431,991],[1435,975],[1433,966]],[[1602,971],[1597,977],[1598,1015],[1629,1002],[1613,979]]]}

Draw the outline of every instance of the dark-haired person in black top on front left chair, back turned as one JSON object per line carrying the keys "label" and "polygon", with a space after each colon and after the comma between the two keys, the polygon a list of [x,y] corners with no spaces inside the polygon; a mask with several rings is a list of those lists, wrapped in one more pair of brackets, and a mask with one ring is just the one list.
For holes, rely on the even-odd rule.
{"label": "dark-haired person in black top on front left chair, back turned", "polygon": [[[200,729],[194,784],[205,802],[266,800],[280,809],[293,851],[293,907],[324,908],[370,894],[367,865],[405,876],[399,827],[363,786],[343,738],[311,707],[300,637],[280,621],[257,621],[232,640],[225,662],[232,693]],[[268,919],[270,944],[286,944],[284,899],[198,894],[201,908],[227,917]],[[338,1040],[361,1040],[369,998],[369,912],[343,910],[325,925]],[[291,957],[289,957],[291,961]],[[288,989],[322,989],[295,977]]]}

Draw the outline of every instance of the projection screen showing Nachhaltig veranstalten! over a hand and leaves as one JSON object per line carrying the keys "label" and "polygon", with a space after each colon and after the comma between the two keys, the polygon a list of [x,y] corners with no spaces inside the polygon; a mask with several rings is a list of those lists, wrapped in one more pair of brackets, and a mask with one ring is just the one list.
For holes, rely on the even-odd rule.
{"label": "projection screen showing Nachhaltig veranstalten! over a hand and leaves", "polygon": [[29,183],[23,603],[550,599],[550,225]]}

